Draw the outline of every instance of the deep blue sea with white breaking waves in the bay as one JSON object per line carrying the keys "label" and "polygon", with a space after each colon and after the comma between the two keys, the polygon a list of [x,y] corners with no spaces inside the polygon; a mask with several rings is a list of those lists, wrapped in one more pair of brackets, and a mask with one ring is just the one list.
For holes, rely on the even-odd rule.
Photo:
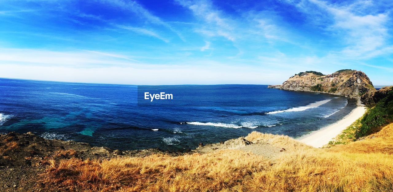
{"label": "deep blue sea with white breaking waves in the bay", "polygon": [[[144,100],[144,92],[173,100]],[[31,131],[115,149],[182,151],[252,131],[299,137],[356,101],[267,85],[133,86],[0,79],[0,133]]]}

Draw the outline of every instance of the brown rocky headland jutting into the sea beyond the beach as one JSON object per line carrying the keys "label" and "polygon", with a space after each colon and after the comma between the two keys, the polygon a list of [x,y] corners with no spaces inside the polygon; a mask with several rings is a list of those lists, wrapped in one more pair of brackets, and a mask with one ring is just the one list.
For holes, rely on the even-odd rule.
{"label": "brown rocky headland jutting into the sea beyond the beach", "polygon": [[364,72],[339,70],[331,75],[317,72],[303,72],[286,80],[282,85],[268,86],[294,91],[313,91],[360,98],[367,92],[375,92],[373,83]]}

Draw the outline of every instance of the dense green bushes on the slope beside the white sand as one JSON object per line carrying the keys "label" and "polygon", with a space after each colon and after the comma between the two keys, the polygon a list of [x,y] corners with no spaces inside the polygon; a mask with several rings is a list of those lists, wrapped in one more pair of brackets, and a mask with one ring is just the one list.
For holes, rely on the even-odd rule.
{"label": "dense green bushes on the slope beside the white sand", "polygon": [[362,119],[362,126],[356,131],[356,138],[370,135],[380,130],[381,126],[389,124],[393,120],[393,91],[387,93],[374,108]]}

